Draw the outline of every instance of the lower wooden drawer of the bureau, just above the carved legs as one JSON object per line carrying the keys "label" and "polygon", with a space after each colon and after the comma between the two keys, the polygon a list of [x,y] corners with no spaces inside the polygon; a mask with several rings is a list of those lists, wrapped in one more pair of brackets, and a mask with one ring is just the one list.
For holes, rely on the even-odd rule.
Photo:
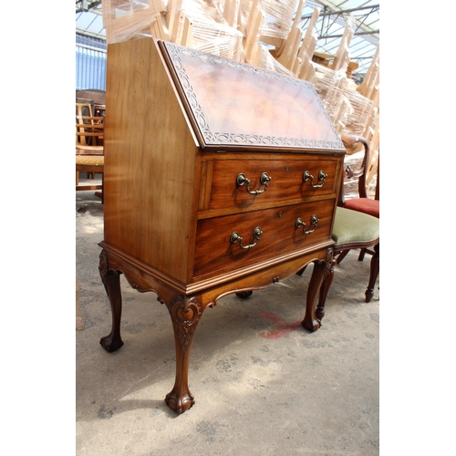
{"label": "lower wooden drawer of the bureau, just above the carved legs", "polygon": [[[193,276],[232,271],[330,240],[335,204],[335,199],[328,199],[198,221]],[[319,220],[316,227],[311,223],[313,215]],[[306,223],[306,231],[315,231],[304,233],[296,227],[298,218]],[[257,226],[262,234],[255,244]],[[244,238],[244,246],[255,245],[247,249],[239,241],[233,244],[233,233]]]}

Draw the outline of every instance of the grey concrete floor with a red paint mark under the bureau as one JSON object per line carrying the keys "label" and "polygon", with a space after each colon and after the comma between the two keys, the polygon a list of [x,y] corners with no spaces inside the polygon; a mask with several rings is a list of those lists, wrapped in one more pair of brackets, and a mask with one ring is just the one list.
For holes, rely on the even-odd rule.
{"label": "grey concrete floor with a red paint mark under the bureau", "polygon": [[152,293],[122,276],[121,333],[107,353],[109,300],[98,275],[103,206],[77,192],[77,273],[84,330],[76,334],[77,455],[378,455],[379,279],[364,302],[369,259],[337,266],[323,326],[306,331],[303,276],[229,295],[207,309],[192,347],[196,404],[164,403],[174,381],[171,318]]}

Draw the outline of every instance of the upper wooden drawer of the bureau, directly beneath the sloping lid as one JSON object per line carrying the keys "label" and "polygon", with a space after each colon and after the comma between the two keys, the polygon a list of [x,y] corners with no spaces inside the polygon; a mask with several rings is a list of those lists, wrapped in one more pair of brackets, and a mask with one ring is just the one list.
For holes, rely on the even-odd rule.
{"label": "upper wooden drawer of the bureau, directly beneath the sloping lid", "polygon": [[[304,181],[304,173],[308,172],[312,179]],[[319,181],[320,171],[326,174],[325,181]],[[271,178],[267,189],[260,179],[263,173]],[[250,181],[237,183],[239,174],[244,174]],[[223,209],[227,207],[243,207],[263,202],[288,201],[293,199],[325,196],[337,192],[337,160],[214,160],[212,169],[211,195],[209,207],[206,209]],[[262,192],[264,191],[264,192]]]}

